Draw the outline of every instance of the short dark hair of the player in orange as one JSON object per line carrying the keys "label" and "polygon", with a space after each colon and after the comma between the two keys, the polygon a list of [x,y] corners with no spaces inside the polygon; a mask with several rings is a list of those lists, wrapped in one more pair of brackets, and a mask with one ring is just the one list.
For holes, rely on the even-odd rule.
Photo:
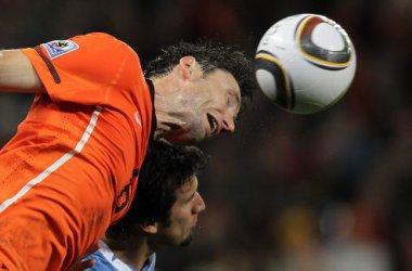
{"label": "short dark hair of the player in orange", "polygon": [[[237,47],[226,46],[211,40],[199,39],[194,43],[181,41],[162,50],[157,59],[147,63],[145,76],[164,76],[178,65],[181,57],[188,55],[196,59],[205,75],[217,68],[229,72],[241,88],[241,96],[252,99],[252,91],[256,89],[256,81],[250,60]],[[245,101],[242,99],[241,113],[244,107]]]}

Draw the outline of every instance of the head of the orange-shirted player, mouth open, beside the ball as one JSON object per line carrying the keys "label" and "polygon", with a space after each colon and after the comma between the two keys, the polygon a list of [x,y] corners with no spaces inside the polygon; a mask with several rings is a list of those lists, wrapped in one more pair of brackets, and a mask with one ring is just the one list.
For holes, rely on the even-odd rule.
{"label": "head of the orange-shirted player, mouth open, beside the ball", "polygon": [[201,141],[232,132],[255,89],[252,62],[234,47],[180,42],[147,64],[156,89],[156,116],[170,142]]}

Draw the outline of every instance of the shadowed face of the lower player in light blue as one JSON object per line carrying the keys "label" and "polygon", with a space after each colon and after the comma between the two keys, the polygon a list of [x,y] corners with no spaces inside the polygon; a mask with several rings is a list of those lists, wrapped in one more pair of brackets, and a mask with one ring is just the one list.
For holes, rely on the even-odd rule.
{"label": "shadowed face of the lower player in light blue", "polygon": [[176,202],[170,209],[170,223],[167,227],[158,225],[157,236],[164,245],[186,246],[193,238],[193,229],[197,223],[197,216],[206,206],[197,192],[195,176],[176,192]]}

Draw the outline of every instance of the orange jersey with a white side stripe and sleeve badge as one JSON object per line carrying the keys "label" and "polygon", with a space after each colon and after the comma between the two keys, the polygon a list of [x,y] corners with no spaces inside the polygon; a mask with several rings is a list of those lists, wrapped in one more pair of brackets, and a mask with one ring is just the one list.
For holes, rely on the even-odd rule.
{"label": "orange jersey with a white side stripe and sleeve badge", "polygon": [[129,207],[153,86],[136,52],[106,34],[23,52],[46,92],[0,151],[0,269],[66,270]]}

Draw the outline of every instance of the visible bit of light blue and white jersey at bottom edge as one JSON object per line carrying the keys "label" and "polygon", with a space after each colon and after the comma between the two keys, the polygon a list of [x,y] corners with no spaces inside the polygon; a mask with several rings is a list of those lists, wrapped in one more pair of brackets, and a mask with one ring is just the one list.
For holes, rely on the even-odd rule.
{"label": "visible bit of light blue and white jersey at bottom edge", "polygon": [[[137,271],[133,267],[126,264],[108,248],[102,241],[101,248],[93,254],[85,257],[83,260],[94,259],[95,263],[87,271]],[[143,266],[142,271],[155,271],[156,254],[152,254],[149,260]]]}

